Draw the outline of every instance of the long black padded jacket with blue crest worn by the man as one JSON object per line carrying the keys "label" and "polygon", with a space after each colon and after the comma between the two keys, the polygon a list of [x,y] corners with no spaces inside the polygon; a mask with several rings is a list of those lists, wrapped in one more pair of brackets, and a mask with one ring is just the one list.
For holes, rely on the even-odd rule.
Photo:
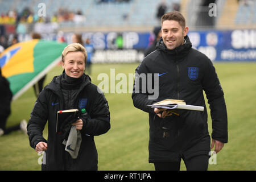
{"label": "long black padded jacket with blue crest worn by the man", "polygon": [[[158,74],[159,96],[149,100],[148,90],[143,93],[140,83],[139,92],[132,94],[135,107],[149,113],[150,141],[149,162],[172,162],[181,156],[189,158],[210,151],[210,137],[207,125],[207,109],[203,96],[206,93],[212,117],[212,138],[228,142],[228,121],[224,93],[218,80],[212,61],[203,53],[191,48],[188,36],[185,43],[168,50],[162,38],[156,45],[156,51],[144,58],[136,69],[136,74]],[[154,79],[152,79],[154,85]],[[146,82],[148,83],[148,82]],[[148,85],[147,85],[148,86]],[[205,111],[179,110],[180,115],[159,118],[154,109],[147,105],[166,98],[184,100],[188,105],[204,106]],[[163,137],[167,132],[168,136]]]}

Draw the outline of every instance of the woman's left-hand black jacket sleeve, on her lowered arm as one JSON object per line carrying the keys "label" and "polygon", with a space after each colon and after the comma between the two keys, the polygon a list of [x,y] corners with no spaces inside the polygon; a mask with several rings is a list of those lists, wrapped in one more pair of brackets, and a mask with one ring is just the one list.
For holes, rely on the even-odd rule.
{"label": "woman's left-hand black jacket sleeve, on her lowered arm", "polygon": [[46,91],[43,89],[35,102],[34,109],[30,114],[27,125],[28,139],[30,146],[35,149],[39,142],[47,142],[43,137],[43,130],[48,120],[48,109]]}

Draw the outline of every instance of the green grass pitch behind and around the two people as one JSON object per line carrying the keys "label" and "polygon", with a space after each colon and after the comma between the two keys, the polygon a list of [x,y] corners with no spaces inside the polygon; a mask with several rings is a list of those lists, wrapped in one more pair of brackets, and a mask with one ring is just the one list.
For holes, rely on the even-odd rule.
{"label": "green grass pitch behind and around the two people", "polygon": [[[92,82],[98,85],[100,73],[134,73],[138,64],[92,65]],[[209,170],[255,170],[256,138],[256,64],[216,63],[218,77],[225,93],[228,109],[229,142],[217,154],[217,164]],[[55,67],[47,74],[46,84],[59,75],[62,68]],[[115,81],[117,84],[119,81]],[[128,88],[127,88],[128,90]],[[131,93],[106,93],[109,102],[111,129],[95,137],[99,170],[154,170],[148,163],[148,115],[133,106]],[[12,113],[7,126],[30,118],[35,103],[34,90],[30,88],[12,103]],[[209,107],[208,107],[209,110]],[[209,113],[209,112],[208,112]],[[210,117],[208,121],[211,134]],[[47,138],[47,126],[44,130]],[[0,137],[0,170],[40,170],[40,156],[30,147],[27,135],[15,131]],[[185,170],[181,163],[181,170]]]}

